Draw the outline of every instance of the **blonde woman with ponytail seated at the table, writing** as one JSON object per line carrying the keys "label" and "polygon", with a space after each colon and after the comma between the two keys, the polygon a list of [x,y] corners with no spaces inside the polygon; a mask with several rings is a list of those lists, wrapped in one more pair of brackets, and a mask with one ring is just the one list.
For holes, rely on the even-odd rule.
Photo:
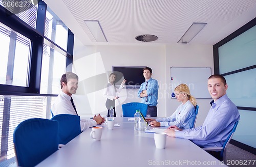
{"label": "blonde woman with ponytail seated at the table, writing", "polygon": [[180,84],[175,88],[175,95],[178,101],[182,102],[170,117],[158,119],[146,119],[151,121],[151,126],[173,126],[179,128],[193,128],[194,119],[196,117],[196,99],[190,95],[189,88],[186,84]]}

